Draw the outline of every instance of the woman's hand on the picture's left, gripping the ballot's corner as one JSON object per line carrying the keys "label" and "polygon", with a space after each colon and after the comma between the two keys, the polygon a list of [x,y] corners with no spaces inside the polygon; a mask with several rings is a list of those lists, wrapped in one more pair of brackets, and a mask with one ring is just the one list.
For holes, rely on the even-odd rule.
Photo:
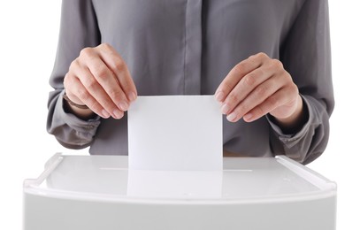
{"label": "woman's hand on the picture's left, gripping the ballot's corner", "polygon": [[65,94],[100,117],[121,119],[137,91],[126,63],[111,45],[85,48],[64,78]]}

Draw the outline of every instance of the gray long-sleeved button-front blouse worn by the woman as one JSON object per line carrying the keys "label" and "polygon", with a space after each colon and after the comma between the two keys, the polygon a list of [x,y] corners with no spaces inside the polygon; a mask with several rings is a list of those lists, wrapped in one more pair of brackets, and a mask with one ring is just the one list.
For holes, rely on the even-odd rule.
{"label": "gray long-sleeved button-front blouse worn by the woman", "polygon": [[63,109],[71,62],[103,42],[125,59],[139,96],[211,95],[241,60],[258,52],[278,58],[309,119],[284,134],[269,116],[251,123],[224,118],[224,149],[285,154],[303,164],[326,149],[334,106],[326,0],[64,0],[47,130],[66,148],[126,155],[126,116],[85,121]]}

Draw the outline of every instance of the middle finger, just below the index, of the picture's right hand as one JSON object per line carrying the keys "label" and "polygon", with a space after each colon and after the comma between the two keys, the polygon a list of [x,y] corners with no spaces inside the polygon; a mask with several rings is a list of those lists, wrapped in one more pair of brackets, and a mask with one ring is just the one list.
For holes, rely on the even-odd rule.
{"label": "middle finger, just below the index, of the picture's right hand", "polygon": [[[234,108],[241,103],[255,88],[261,86],[265,80],[271,78],[272,72],[260,66],[256,70],[245,75],[233,90],[226,96],[222,104],[221,111],[223,114],[229,114]],[[260,87],[257,90],[260,90]]]}

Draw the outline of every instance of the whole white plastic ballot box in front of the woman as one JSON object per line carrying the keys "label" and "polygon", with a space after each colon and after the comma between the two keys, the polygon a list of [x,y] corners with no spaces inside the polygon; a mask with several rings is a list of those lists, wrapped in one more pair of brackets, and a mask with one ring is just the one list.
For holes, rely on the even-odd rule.
{"label": "whole white plastic ballot box in front of the woman", "polygon": [[287,157],[225,157],[221,171],[127,165],[124,156],[54,155],[24,181],[24,229],[336,228],[336,184]]}

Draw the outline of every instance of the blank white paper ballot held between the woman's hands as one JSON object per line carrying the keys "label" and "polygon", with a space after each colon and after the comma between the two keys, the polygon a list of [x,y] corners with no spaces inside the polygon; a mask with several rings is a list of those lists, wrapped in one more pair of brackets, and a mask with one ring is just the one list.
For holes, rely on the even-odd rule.
{"label": "blank white paper ballot held between the woman's hands", "polygon": [[222,170],[214,96],[139,96],[128,111],[129,169]]}

